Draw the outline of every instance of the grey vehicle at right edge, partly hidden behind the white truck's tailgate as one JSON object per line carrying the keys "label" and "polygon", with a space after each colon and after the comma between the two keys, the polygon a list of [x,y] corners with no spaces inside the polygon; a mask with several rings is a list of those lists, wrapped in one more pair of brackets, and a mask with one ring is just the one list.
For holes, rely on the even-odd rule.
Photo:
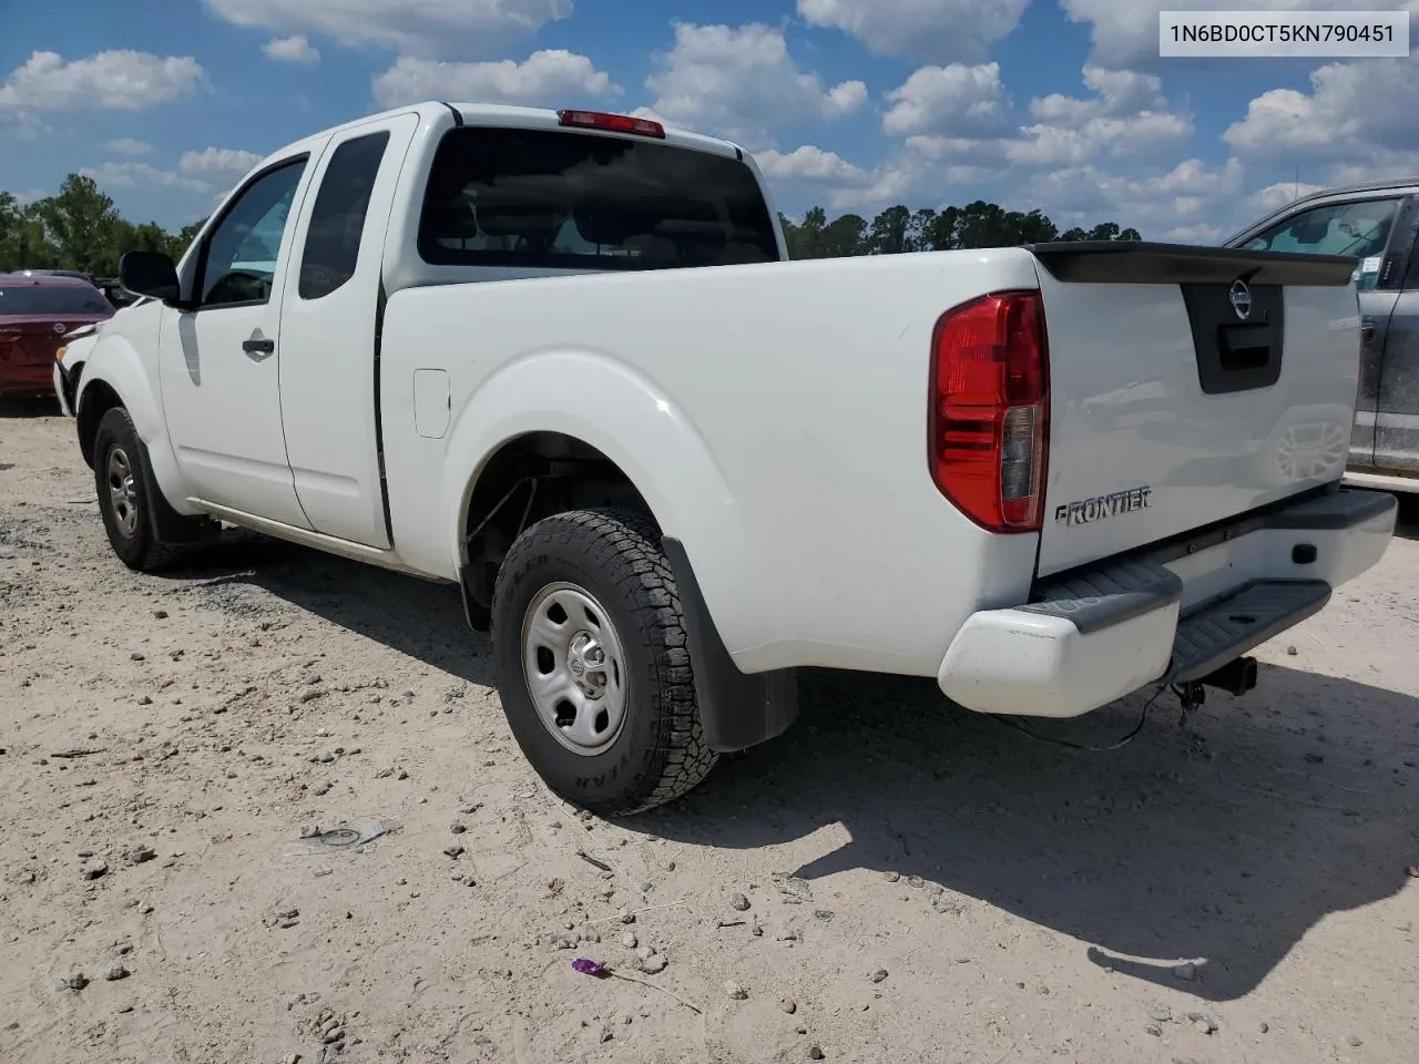
{"label": "grey vehicle at right edge, partly hidden behind the white truck's tailgate", "polygon": [[1359,258],[1359,390],[1347,480],[1419,492],[1419,177],[1303,196],[1226,247]]}

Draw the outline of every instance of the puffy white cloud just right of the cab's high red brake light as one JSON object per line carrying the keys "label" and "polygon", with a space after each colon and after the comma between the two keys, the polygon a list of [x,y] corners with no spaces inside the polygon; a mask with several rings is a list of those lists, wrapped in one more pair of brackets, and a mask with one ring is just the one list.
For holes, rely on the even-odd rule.
{"label": "puffy white cloud just right of the cab's high red brake light", "polygon": [[654,57],[646,87],[656,113],[753,149],[773,145],[775,126],[837,118],[867,102],[860,81],[824,89],[816,74],[799,70],[783,31],[761,23],[675,23],[675,45]]}

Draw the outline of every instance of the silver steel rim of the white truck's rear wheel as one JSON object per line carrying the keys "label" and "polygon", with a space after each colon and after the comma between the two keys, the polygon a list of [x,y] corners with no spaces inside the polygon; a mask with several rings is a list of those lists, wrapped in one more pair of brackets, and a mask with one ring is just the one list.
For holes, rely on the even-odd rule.
{"label": "silver steel rim of the white truck's rear wheel", "polygon": [[626,724],[626,654],[606,609],[575,583],[553,583],[522,616],[522,674],[538,719],[583,758]]}

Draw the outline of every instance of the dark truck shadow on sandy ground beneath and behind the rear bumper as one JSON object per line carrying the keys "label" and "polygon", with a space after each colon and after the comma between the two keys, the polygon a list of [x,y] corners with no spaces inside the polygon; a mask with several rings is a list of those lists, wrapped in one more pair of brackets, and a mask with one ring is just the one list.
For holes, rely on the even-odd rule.
{"label": "dark truck shadow on sandy ground beneath and behind the rear bumper", "polygon": [[[840,823],[850,843],[780,871],[920,875],[921,919],[955,918],[928,904],[945,888],[1093,943],[1100,966],[1232,1000],[1419,860],[1419,699],[1264,665],[1261,684],[1213,694],[1185,732],[1164,695],[1132,745],[1084,753],[951,711],[931,681],[815,674],[793,729],[636,827],[755,848]],[[1101,745],[1141,705],[1037,731]]]}

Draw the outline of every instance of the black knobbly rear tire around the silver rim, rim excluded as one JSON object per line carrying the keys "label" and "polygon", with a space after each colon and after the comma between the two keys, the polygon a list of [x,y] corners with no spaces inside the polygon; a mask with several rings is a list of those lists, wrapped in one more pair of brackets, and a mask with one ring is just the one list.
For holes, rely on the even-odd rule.
{"label": "black knobbly rear tire around the silver rim, rim excluded", "polygon": [[[573,752],[543,724],[524,671],[529,607],[558,586],[589,593],[624,658],[623,722],[595,753]],[[498,570],[492,653],[502,711],[522,753],[572,804],[600,816],[653,809],[687,794],[718,760],[700,722],[675,579],[646,516],[580,509],[524,532]]]}

